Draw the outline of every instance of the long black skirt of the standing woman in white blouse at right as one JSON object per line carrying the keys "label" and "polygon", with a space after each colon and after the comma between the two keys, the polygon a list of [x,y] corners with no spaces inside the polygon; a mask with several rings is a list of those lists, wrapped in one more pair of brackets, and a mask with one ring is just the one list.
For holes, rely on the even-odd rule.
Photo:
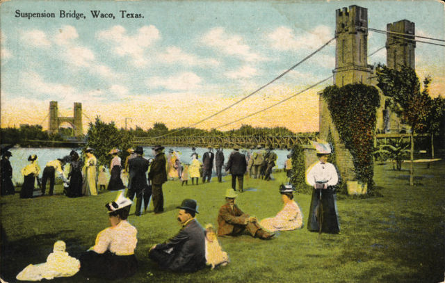
{"label": "long black skirt of the standing woman in white blouse at right", "polygon": [[[320,201],[321,191],[321,201]],[[339,219],[337,216],[335,188],[317,189],[312,191],[311,207],[309,208],[309,219],[307,229],[311,232],[338,234],[340,232]]]}

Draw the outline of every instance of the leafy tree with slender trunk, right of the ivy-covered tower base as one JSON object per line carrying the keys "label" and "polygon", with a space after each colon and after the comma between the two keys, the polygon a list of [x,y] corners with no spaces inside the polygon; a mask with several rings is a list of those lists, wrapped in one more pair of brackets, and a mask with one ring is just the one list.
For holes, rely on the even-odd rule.
{"label": "leafy tree with slender trunk, right of the ivy-covered tower base", "polygon": [[377,67],[378,87],[383,94],[391,98],[389,108],[401,119],[401,122],[411,127],[410,140],[410,186],[414,185],[414,133],[426,128],[430,106],[428,86],[430,78],[423,81],[423,91],[420,90],[419,77],[411,67],[403,66],[401,70],[389,69],[385,65]]}

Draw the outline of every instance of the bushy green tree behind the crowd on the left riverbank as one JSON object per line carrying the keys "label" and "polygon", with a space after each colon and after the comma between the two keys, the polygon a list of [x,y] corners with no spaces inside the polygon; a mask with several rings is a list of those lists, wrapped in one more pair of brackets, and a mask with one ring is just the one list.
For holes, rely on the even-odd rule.
{"label": "bushy green tree behind the crowd on the left riverbank", "polygon": [[131,145],[131,135],[128,131],[120,131],[114,122],[105,123],[96,118],[95,123],[90,122],[86,135],[86,147],[95,149],[95,156],[99,165],[108,165],[108,152],[117,147],[121,150],[121,159],[125,160],[127,150]]}

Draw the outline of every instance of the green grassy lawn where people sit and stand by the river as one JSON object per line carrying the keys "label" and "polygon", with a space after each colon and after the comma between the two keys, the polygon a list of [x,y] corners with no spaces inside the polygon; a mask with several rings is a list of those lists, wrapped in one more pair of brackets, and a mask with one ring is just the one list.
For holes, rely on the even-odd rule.
{"label": "green grassy lawn where people sit and stand by the river", "polygon": [[[281,232],[271,241],[248,235],[220,238],[230,264],[216,270],[193,274],[172,274],[158,270],[147,257],[149,247],[176,234],[179,229],[175,207],[184,198],[197,200],[197,219],[204,226],[216,225],[219,207],[225,202],[229,177],[218,184],[181,186],[168,181],[163,188],[165,213],[149,213],[129,222],[138,229],[136,257],[138,273],[115,282],[442,282],[444,280],[445,190],[442,181],[445,162],[416,163],[416,186],[408,185],[407,163],[401,172],[391,164],[375,166],[378,197],[339,196],[341,234],[310,233],[306,227]],[[245,180],[245,193],[238,206],[246,213],[265,218],[282,207],[277,193],[284,173],[277,180]],[[18,189],[17,189],[18,190]],[[108,227],[104,204],[114,192],[75,199],[60,195],[21,200],[19,195],[1,197],[2,238],[1,277],[15,282],[15,275],[28,264],[46,261],[58,239],[67,243],[73,257],[95,242],[97,233]],[[307,223],[310,195],[297,194],[296,200]],[[132,211],[134,205],[132,207]],[[75,275],[53,282],[86,282]],[[88,282],[104,282],[92,280]]]}

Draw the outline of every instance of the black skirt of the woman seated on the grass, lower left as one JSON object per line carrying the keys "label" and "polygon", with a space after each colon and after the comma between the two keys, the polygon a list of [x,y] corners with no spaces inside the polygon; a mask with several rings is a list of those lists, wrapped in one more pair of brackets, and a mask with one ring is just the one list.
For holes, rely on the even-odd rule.
{"label": "black skirt of the woman seated on the grass, lower left", "polygon": [[116,255],[110,251],[98,254],[90,250],[84,252],[80,258],[81,275],[107,280],[127,278],[138,270],[138,260],[134,254]]}

